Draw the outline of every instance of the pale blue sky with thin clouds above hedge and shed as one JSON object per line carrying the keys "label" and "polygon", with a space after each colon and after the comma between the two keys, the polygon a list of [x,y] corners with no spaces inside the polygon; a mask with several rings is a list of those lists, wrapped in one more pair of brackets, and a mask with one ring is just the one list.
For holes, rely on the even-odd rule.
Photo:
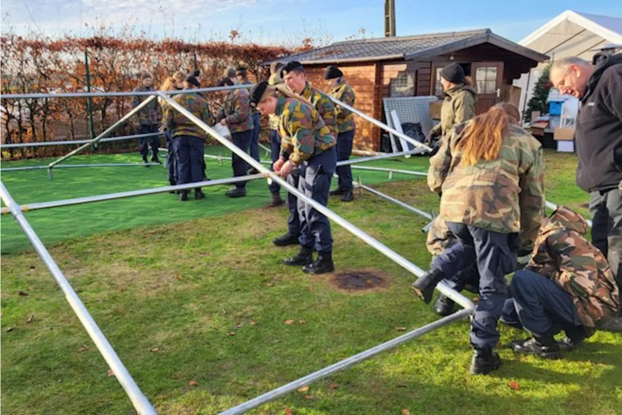
{"label": "pale blue sky with thin clouds above hedge and shed", "polygon": [[[519,41],[561,12],[572,9],[622,17],[622,1],[593,2],[484,0],[396,0],[397,35],[490,27],[496,34]],[[383,0],[2,0],[5,24],[19,32],[28,27],[45,34],[71,30],[84,34],[96,19],[120,26],[136,22],[153,36],[226,39],[238,29],[254,42],[296,43],[305,36],[343,40],[359,35],[383,35]]]}

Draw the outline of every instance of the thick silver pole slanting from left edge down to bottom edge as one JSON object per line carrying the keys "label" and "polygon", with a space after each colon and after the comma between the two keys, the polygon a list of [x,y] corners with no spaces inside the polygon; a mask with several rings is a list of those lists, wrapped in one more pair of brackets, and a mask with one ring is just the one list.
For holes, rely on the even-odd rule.
{"label": "thick silver pole slanting from left edge down to bottom edge", "polygon": [[2,182],[0,182],[0,198],[6,205],[7,209],[11,211],[13,217],[26,234],[32,246],[35,248],[35,251],[39,254],[41,260],[50,271],[50,274],[52,274],[52,277],[63,291],[63,294],[65,294],[65,298],[72,307],[73,312],[75,312],[78,316],[78,319],[80,319],[81,324],[86,329],[86,332],[91,337],[91,340],[95,343],[102,357],[106,360],[108,366],[113,370],[114,376],[128,394],[128,397],[132,401],[136,411],[138,411],[141,415],[155,415],[156,410],[153,406],[151,406],[151,403],[149,403],[141,389],[139,389],[138,385],[136,385],[136,382],[132,379],[132,376],[129,374],[116,352],[114,352],[113,347],[104,336],[104,333],[101,332],[95,320],[93,320],[93,317],[91,317],[88,310],[86,310],[86,307],[80,301],[78,294],[73,291],[73,287],[69,281],[67,281],[67,278],[63,275],[63,272],[60,271],[60,268],[58,268],[58,265],[55,263],[49,251],[39,239],[39,236],[37,236],[37,233],[35,233],[34,229],[32,229],[32,226],[30,226],[30,223],[28,223],[26,217],[24,217],[24,213],[22,213],[21,208],[17,205],[15,200],[13,200],[11,194],[9,194]]}

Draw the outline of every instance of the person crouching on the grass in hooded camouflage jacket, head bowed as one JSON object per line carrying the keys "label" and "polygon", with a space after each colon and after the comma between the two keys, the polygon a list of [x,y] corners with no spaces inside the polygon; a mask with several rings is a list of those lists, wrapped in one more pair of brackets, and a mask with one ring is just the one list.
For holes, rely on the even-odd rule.
{"label": "person crouching on the grass in hooded camouflage jacket, head bowed", "polygon": [[[600,249],[585,238],[588,224],[578,213],[560,206],[544,223],[526,268],[511,281],[501,321],[528,330],[532,337],[515,340],[518,353],[559,358],[596,329],[621,329],[616,314],[620,292]],[[564,330],[559,343],[554,335]]]}

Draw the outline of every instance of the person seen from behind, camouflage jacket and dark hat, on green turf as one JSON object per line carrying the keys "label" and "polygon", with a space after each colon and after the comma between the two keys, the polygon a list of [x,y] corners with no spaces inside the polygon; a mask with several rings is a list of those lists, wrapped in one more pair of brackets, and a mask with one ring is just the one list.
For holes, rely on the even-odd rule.
{"label": "person seen from behind, camouflage jacket and dark hat, on green turf", "polygon": [[[196,78],[188,77],[184,87],[184,89],[198,88],[199,83]],[[197,93],[183,93],[175,95],[173,100],[204,123],[209,126],[214,125],[210,107],[203,96]],[[166,105],[164,112],[165,126],[170,131],[174,147],[177,184],[202,181],[204,177],[203,154],[205,154],[207,134],[172,106]],[[187,197],[187,190],[182,190],[179,196],[180,200],[187,200]],[[205,194],[201,188],[197,187],[195,198],[202,199],[204,197]]]}

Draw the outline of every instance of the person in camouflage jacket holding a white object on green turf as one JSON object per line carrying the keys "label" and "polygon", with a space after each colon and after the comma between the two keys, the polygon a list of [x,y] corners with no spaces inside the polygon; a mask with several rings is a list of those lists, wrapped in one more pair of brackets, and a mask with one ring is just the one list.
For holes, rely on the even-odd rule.
{"label": "person in camouflage jacket holding a white object on green turf", "polygon": [[[235,71],[233,76],[235,77]],[[233,80],[231,78],[223,78],[216,85],[233,86]],[[223,126],[228,126],[229,131],[231,131],[231,142],[244,152],[248,152],[253,139],[253,118],[251,117],[248,91],[245,88],[239,88],[236,90],[223,90],[221,93],[225,97],[225,102],[220,111],[218,111],[216,121]],[[248,172],[248,164],[234,152],[231,153],[231,167],[233,169],[233,177],[244,176]],[[246,182],[237,182],[235,187],[229,190],[226,195],[228,197],[246,196]]]}

